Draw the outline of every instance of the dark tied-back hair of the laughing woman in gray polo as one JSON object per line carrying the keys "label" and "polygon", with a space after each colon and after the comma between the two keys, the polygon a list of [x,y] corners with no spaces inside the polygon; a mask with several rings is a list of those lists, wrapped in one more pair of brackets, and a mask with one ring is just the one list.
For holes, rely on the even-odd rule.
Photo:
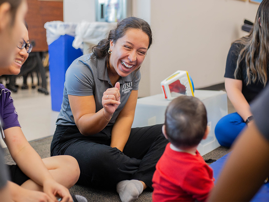
{"label": "dark tied-back hair of the laughing woman in gray polo", "polygon": [[137,17],[127,17],[117,23],[116,27],[109,32],[106,39],[101,40],[97,46],[92,47],[92,57],[106,58],[107,61],[109,57],[108,49],[110,47],[110,41],[112,40],[116,43],[116,41],[123,37],[129,29],[140,29],[145,32],[149,36],[149,47],[151,46],[152,32],[149,24],[143,19]]}

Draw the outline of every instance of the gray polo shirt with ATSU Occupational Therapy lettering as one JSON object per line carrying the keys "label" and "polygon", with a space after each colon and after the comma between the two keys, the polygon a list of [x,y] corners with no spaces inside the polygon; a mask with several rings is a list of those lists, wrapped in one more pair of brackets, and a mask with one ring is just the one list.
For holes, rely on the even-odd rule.
{"label": "gray polo shirt with ATSU Occupational Therapy lettering", "polygon": [[[74,60],[65,74],[64,97],[56,125],[76,125],[70,108],[68,94],[77,96],[93,95],[96,112],[102,106],[103,93],[112,84],[108,77],[105,59],[91,59],[91,54],[83,55]],[[120,111],[125,106],[132,90],[138,90],[140,71],[134,71],[126,77],[120,77],[120,105],[107,126],[113,125]]]}

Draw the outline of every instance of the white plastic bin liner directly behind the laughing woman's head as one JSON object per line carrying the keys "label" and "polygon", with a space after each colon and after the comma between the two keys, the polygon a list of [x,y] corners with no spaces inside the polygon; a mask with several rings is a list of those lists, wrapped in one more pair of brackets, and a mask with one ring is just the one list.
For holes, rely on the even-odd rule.
{"label": "white plastic bin liner directly behind the laughing woman's head", "polygon": [[83,43],[97,45],[99,41],[106,38],[111,29],[114,28],[116,23],[109,22],[86,22],[82,21],[78,24],[75,31],[75,39],[73,47],[83,49]]}

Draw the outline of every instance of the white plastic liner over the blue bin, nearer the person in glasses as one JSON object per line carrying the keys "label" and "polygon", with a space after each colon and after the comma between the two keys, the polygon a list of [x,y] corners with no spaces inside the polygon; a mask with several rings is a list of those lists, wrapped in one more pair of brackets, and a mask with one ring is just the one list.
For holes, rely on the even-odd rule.
{"label": "white plastic liner over the blue bin, nearer the person in glasses", "polygon": [[47,43],[50,45],[62,35],[75,36],[75,30],[78,23],[66,23],[62,21],[46,22],[44,27],[46,29]]}

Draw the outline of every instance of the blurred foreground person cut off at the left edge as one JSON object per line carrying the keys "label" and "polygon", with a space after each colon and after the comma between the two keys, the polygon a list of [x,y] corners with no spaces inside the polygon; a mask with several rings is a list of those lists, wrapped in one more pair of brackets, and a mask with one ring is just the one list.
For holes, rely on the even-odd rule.
{"label": "blurred foreground person cut off at the left edge", "polygon": [[[15,48],[23,28],[27,12],[26,0],[0,0],[0,41],[4,50],[0,51],[0,69],[11,65]],[[1,118],[1,117],[0,117]],[[0,147],[0,201],[12,201],[8,183],[8,170]]]}

